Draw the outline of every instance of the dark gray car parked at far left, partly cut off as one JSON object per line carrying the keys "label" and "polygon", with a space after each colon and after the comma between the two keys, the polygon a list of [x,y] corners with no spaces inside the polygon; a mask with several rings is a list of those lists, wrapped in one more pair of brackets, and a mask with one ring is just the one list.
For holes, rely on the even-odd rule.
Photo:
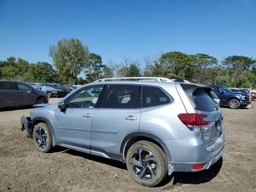
{"label": "dark gray car parked at far left, partly cut off", "polygon": [[48,103],[47,95],[22,82],[0,80],[0,108]]}

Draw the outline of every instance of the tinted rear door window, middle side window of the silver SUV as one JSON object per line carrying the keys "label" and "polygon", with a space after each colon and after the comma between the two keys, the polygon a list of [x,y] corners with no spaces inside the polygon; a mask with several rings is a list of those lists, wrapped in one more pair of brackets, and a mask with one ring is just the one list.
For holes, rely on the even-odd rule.
{"label": "tinted rear door window, middle side window of the silver SUV", "polygon": [[141,86],[109,85],[102,108],[140,108]]}

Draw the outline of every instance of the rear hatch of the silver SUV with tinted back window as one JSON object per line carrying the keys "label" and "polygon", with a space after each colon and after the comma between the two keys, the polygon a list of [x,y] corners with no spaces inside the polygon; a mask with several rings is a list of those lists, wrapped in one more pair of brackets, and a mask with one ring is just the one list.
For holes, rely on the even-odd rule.
{"label": "rear hatch of the silver SUV with tinted back window", "polygon": [[[182,84],[181,84],[182,86]],[[202,121],[200,133],[205,147],[214,144],[222,134],[223,116],[219,106],[214,102],[210,86],[196,86],[191,84],[190,88],[184,89],[196,114],[201,114]]]}

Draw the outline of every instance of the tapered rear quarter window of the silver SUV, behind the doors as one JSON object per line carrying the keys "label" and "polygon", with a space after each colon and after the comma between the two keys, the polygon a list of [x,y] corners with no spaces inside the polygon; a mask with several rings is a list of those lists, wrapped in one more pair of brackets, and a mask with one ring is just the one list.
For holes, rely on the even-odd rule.
{"label": "tapered rear quarter window of the silver SUV, behind the doors", "polygon": [[142,107],[158,106],[172,101],[160,88],[142,86]]}

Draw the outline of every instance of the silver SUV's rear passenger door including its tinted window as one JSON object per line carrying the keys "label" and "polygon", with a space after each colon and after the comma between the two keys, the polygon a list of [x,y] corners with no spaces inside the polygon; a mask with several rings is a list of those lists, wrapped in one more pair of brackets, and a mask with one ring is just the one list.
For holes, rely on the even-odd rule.
{"label": "silver SUV's rear passenger door including its tinted window", "polygon": [[118,160],[122,158],[122,140],[139,130],[140,97],[141,86],[108,86],[102,106],[92,119],[91,154]]}

